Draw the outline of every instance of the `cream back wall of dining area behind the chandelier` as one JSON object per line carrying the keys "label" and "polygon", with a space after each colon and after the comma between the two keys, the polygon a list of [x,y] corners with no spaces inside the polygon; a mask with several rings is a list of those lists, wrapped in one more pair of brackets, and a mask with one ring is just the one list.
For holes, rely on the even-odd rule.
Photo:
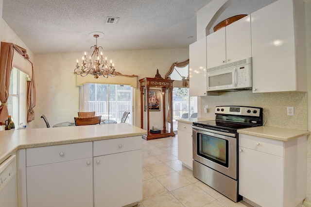
{"label": "cream back wall of dining area behind the chandelier", "polygon": [[[100,44],[99,44],[100,45]],[[50,125],[58,122],[72,121],[79,110],[79,88],[76,86],[76,59],[84,52],[36,54],[36,106],[37,116],[45,114]],[[104,51],[104,56],[113,59],[118,72],[127,75],[138,75],[138,80],[144,77],[155,77],[156,69],[162,77],[165,76],[174,62],[182,62],[189,58],[189,49]],[[103,79],[103,77],[100,77]],[[113,77],[109,77],[113,78]],[[139,86],[139,84],[138,84]],[[140,127],[140,91],[135,89],[135,125]],[[162,110],[152,112],[150,119],[153,125],[163,125]],[[158,122],[155,122],[158,121]],[[36,118],[35,128],[43,128],[43,120]]]}

